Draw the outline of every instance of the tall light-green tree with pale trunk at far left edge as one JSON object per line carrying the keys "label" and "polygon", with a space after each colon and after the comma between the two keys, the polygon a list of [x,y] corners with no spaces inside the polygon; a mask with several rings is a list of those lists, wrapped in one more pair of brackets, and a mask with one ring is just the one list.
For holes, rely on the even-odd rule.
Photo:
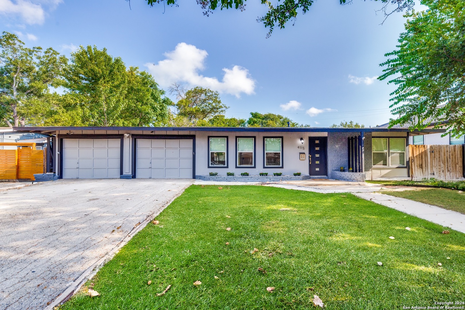
{"label": "tall light-green tree with pale trunk at far left edge", "polygon": [[0,113],[8,126],[24,126],[31,116],[31,104],[45,108],[49,87],[62,84],[65,56],[51,47],[28,48],[17,35],[3,32],[0,37]]}

